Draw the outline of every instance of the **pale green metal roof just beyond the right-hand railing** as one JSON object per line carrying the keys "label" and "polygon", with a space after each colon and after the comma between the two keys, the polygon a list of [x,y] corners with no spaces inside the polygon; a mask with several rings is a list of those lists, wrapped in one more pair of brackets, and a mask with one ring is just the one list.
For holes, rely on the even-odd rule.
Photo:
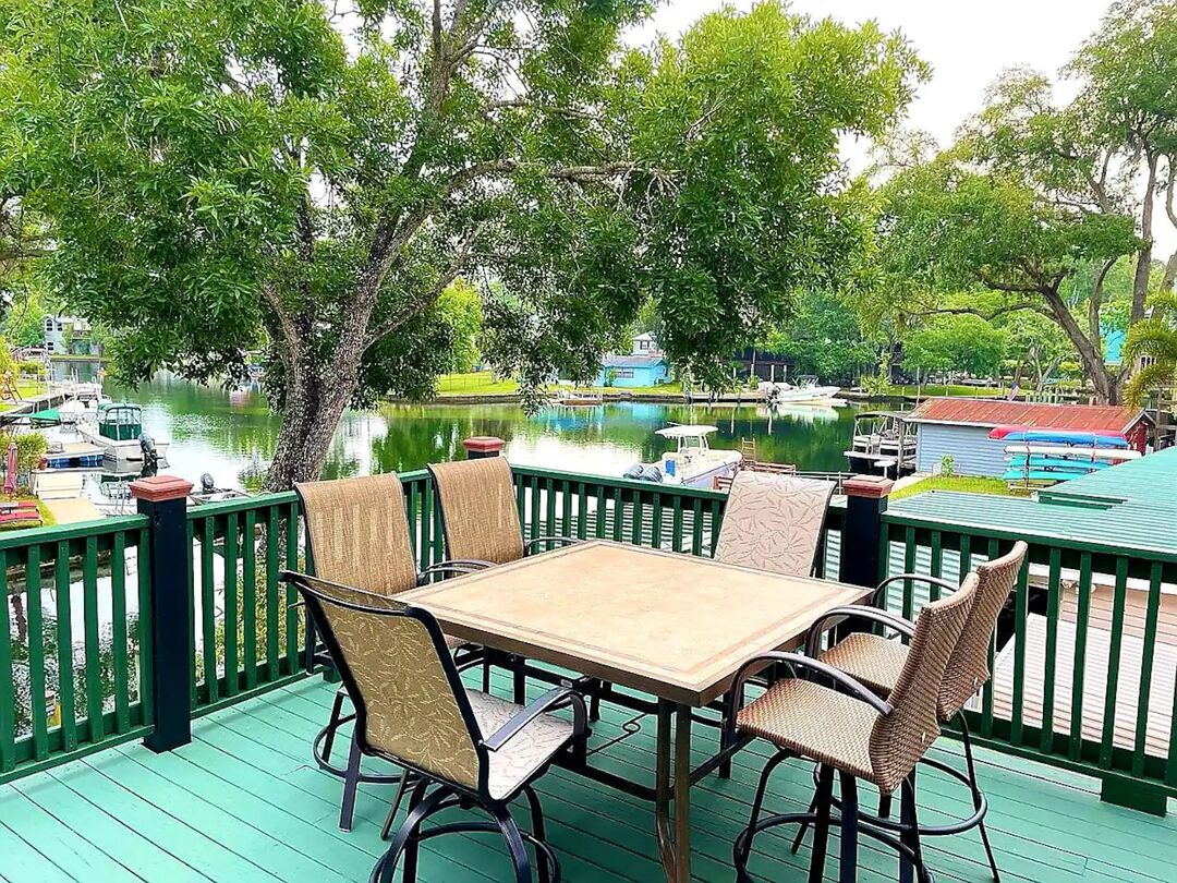
{"label": "pale green metal roof just beyond the right-hand railing", "polygon": [[1040,491],[1037,500],[931,491],[891,511],[904,517],[1177,555],[1177,449]]}

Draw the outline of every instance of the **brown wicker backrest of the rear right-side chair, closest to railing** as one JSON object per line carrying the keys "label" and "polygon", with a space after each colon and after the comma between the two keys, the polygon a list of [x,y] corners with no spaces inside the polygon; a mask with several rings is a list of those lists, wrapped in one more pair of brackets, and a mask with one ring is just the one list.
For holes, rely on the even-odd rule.
{"label": "brown wicker backrest of the rear right-side chair, closest to railing", "polygon": [[977,567],[978,584],[972,608],[940,684],[942,721],[955,717],[989,680],[989,648],[997,629],[997,616],[1013,591],[1025,556],[1026,544],[1019,540],[1009,553]]}

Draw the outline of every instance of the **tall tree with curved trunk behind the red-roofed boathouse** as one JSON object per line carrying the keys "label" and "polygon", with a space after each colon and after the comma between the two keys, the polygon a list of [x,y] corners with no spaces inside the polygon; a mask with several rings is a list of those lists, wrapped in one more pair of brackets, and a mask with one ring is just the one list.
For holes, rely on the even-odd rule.
{"label": "tall tree with curved trunk behind the red-roofed boathouse", "polygon": [[[1166,190],[1166,204],[1172,195],[1177,4],[1113,4],[1066,73],[1080,91],[1064,106],[1042,74],[1006,72],[952,150],[885,185],[886,277],[917,311],[940,308],[939,292],[982,286],[1005,297],[989,316],[1049,317],[1099,399],[1117,401],[1125,372],[1104,363],[1105,285],[1117,264],[1132,261],[1128,324],[1138,323],[1157,195]],[[1088,271],[1090,290],[1076,298]]]}

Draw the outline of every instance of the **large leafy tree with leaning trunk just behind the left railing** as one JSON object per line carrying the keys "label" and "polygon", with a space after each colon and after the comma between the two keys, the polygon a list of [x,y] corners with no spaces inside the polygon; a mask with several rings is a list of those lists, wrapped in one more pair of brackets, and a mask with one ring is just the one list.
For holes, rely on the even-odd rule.
{"label": "large leafy tree with leaning trunk just behind the left railing", "polygon": [[53,219],[54,284],[128,379],[265,344],[271,489],[320,473],[348,404],[430,392],[459,275],[531,396],[594,373],[649,297],[672,358],[718,376],[843,264],[838,139],[882,134],[924,73],[774,2],[624,54],[645,0],[0,2],[0,192]]}

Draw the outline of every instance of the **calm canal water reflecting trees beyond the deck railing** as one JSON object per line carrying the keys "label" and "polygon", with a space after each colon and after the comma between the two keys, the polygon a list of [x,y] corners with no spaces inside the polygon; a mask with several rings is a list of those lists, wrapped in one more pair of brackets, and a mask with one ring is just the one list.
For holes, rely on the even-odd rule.
{"label": "calm canal water reflecting trees beyond the deck railing", "polygon": [[[144,409],[145,429],[171,442],[167,472],[195,482],[208,472],[220,487],[257,489],[278,440],[279,418],[257,389],[227,390],[159,376],[138,390],[111,390],[115,400]],[[714,447],[757,440],[760,459],[800,470],[845,471],[859,406],[793,406],[770,412],[754,405],[685,405],[640,401],[596,407],[550,406],[527,414],[516,404],[383,404],[345,414],[325,477],[421,469],[460,458],[463,439],[497,436],[512,462],[620,476],[657,459],[670,443],[654,431],[671,423],[713,424]]]}

